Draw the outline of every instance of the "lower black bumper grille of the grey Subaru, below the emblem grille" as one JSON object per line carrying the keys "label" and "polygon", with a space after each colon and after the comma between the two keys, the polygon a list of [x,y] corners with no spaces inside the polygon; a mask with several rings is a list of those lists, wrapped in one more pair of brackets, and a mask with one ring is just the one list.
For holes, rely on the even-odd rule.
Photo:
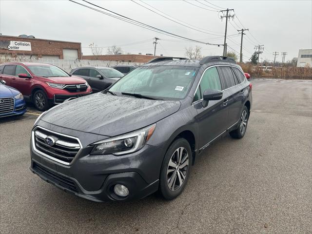
{"label": "lower black bumper grille of the grey Subaru, below the emblem grille", "polygon": [[59,184],[60,186],[65,187],[65,188],[67,188],[73,192],[76,192],[76,193],[78,192],[77,187],[75,185],[75,182],[72,179],[65,177],[65,176],[62,176],[58,173],[55,173],[46,167],[40,166],[39,164],[37,164],[35,162],[33,164],[33,169],[39,175],[46,177],[48,180],[50,180],[56,184]]}

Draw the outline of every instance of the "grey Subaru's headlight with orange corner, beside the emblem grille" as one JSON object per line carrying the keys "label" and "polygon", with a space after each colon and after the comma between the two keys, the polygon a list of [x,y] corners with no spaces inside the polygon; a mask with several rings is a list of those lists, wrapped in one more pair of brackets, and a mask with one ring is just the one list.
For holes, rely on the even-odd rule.
{"label": "grey Subaru's headlight with orange corner, beside the emblem grille", "polygon": [[98,141],[92,144],[94,148],[91,155],[118,156],[136,152],[152,137],[155,128],[156,124],[153,124],[132,133]]}

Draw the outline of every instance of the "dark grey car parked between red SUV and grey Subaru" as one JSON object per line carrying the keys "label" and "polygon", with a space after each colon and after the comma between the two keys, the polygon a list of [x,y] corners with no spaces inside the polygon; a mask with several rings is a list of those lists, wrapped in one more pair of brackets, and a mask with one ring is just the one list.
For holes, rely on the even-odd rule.
{"label": "dark grey car parked between red SUV and grey Subaru", "polygon": [[106,89],[123,77],[121,72],[109,67],[78,67],[74,68],[70,74],[88,81],[95,93]]}

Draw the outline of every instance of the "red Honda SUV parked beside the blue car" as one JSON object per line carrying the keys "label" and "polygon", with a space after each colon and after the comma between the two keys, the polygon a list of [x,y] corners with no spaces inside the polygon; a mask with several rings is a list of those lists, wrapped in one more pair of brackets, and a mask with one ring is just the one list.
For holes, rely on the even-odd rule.
{"label": "red Honda SUV parked beside the blue car", "polygon": [[83,78],[71,76],[57,66],[45,63],[7,62],[0,65],[0,79],[18,89],[40,111],[67,98],[92,93]]}

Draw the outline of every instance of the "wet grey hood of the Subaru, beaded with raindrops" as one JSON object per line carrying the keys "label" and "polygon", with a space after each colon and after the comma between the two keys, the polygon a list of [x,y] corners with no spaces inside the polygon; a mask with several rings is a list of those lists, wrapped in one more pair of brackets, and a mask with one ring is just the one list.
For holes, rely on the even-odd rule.
{"label": "wet grey hood of the Subaru, beaded with raindrops", "polygon": [[65,102],[41,120],[108,137],[128,133],[177,112],[180,101],[161,101],[97,93]]}

